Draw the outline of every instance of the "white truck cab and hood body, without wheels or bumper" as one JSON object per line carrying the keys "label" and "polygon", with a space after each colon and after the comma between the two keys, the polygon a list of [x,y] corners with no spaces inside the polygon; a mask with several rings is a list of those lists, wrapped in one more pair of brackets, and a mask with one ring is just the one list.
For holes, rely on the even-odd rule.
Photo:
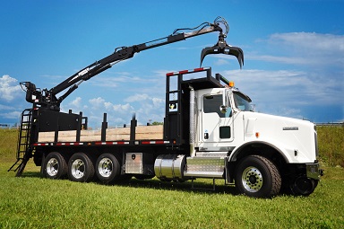
{"label": "white truck cab and hood body, without wheels or bumper", "polygon": [[314,123],[254,112],[250,97],[234,87],[204,89],[197,93],[201,131],[196,147],[200,151],[232,149],[234,154],[238,145],[261,143],[279,149],[288,163],[316,160]]}

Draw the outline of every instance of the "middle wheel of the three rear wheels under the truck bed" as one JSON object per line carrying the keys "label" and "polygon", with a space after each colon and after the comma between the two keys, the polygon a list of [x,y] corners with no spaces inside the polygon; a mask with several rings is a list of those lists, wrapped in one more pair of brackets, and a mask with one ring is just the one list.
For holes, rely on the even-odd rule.
{"label": "middle wheel of the three rear wheels under the truck bed", "polygon": [[68,177],[71,181],[88,182],[94,176],[94,166],[83,153],[73,154],[68,162]]}

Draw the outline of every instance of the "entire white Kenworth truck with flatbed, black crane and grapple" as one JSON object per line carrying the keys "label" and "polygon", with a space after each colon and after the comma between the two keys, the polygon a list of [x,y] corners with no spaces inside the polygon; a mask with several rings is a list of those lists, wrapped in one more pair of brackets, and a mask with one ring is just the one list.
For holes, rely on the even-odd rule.
{"label": "entire white Kenworth truck with flatbed, black crane and grapple", "polygon": [[[282,191],[303,196],[313,193],[323,174],[317,160],[314,123],[255,112],[250,97],[233,82],[220,74],[213,76],[211,67],[202,67],[209,54],[234,56],[240,68],[244,65],[243,50],[226,42],[228,22],[224,18],[180,32],[183,30],[163,39],[116,48],[51,89],[22,82],[32,107],[22,111],[17,161],[9,171],[21,176],[33,158],[49,179],[97,179],[113,184],[132,177],[167,182],[208,178],[235,184],[239,193],[254,198],[271,198]],[[149,48],[213,31],[219,32],[219,40],[202,49],[200,67],[166,75],[160,137],[139,137],[134,115],[127,137],[111,136],[104,113],[99,135],[85,138],[85,131],[90,131],[88,118],[82,112],[60,110],[61,102],[83,81],[117,62]],[[72,133],[72,138],[65,138],[65,132]],[[44,134],[50,137],[44,138]]]}

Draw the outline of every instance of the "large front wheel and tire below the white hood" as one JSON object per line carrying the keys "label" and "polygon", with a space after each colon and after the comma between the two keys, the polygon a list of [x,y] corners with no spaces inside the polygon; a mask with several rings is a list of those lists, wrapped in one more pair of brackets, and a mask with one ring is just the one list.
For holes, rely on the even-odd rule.
{"label": "large front wheel and tire below the white hood", "polygon": [[236,189],[246,196],[270,198],[280,192],[280,186],[279,170],[263,156],[246,156],[236,167]]}

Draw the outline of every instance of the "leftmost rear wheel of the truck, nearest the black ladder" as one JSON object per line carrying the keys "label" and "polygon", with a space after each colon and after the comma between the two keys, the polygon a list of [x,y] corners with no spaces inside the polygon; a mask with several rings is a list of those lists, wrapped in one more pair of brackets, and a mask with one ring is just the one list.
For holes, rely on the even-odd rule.
{"label": "leftmost rear wheel of the truck, nearest the black ladder", "polygon": [[47,154],[43,164],[43,173],[49,179],[60,179],[67,174],[68,165],[64,156],[57,152]]}

